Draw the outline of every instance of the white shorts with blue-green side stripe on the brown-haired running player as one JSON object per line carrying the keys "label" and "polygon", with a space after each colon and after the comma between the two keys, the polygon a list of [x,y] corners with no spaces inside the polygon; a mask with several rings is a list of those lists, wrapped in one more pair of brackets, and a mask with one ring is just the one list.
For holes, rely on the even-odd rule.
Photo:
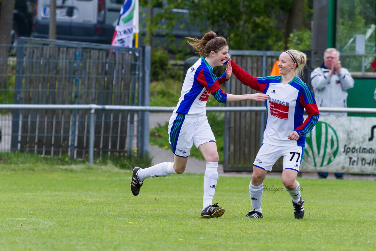
{"label": "white shorts with blue-green side stripe on the brown-haired running player", "polygon": [[168,122],[168,135],[172,152],[180,157],[188,157],[193,144],[198,148],[203,143],[215,142],[205,115],[173,113]]}

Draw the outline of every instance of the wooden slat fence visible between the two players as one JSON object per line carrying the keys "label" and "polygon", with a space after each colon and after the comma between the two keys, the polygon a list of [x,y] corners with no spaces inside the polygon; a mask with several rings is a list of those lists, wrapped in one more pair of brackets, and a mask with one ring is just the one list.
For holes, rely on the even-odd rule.
{"label": "wooden slat fence visible between the two players", "polygon": [[[231,58],[252,76],[267,76],[281,52],[230,50],[229,53]],[[230,78],[230,81],[226,82],[226,92],[253,94],[257,91],[241,84],[237,78]],[[249,164],[255,159],[263,140],[266,114],[256,112],[256,110],[247,110],[247,108],[253,106],[253,108],[261,109],[257,111],[264,111],[266,110],[265,103],[243,101],[227,103],[226,107],[234,108],[239,105],[245,110],[226,112],[224,115],[223,169],[225,171],[249,170]]]}

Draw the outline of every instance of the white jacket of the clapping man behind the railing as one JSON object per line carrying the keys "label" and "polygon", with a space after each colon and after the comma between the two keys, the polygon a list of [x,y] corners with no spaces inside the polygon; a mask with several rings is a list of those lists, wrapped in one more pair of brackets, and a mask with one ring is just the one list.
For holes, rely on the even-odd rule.
{"label": "white jacket of the clapping man behind the railing", "polygon": [[[317,106],[347,107],[347,90],[354,87],[354,79],[346,68],[341,67],[341,74],[335,72],[329,76],[330,70],[321,65],[311,73],[311,84],[315,93]],[[347,116],[346,113],[320,113],[322,116]]]}

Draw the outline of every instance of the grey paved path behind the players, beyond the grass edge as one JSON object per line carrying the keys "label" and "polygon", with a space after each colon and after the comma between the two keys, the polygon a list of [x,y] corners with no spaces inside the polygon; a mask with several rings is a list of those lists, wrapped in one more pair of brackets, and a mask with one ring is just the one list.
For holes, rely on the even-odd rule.
{"label": "grey paved path behind the players, beyond the grass edge", "polygon": [[[149,122],[150,128],[152,126],[158,126],[158,123],[164,125],[165,122],[171,117],[171,112],[168,113],[150,113]],[[195,146],[193,146],[195,147]],[[173,153],[170,149],[159,148],[156,146],[149,146],[149,154],[153,158],[152,164],[158,164],[161,162],[172,162],[174,160]],[[205,173],[205,161],[199,160],[196,158],[189,157],[187,167],[185,169],[186,173]],[[251,172],[223,172],[223,165],[218,165],[218,174],[220,176],[248,176],[251,178]],[[312,178],[317,179],[317,173],[300,173],[303,178]],[[280,172],[270,172],[268,173],[268,177],[280,177]],[[368,175],[350,175],[345,174],[345,179],[352,179],[352,180],[376,180],[376,176],[368,176]],[[334,174],[329,174],[328,179],[335,179]]]}

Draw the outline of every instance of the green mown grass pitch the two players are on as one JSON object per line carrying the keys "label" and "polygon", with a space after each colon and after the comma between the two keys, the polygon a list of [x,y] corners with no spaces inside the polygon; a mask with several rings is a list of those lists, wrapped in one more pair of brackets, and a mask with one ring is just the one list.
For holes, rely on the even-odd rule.
{"label": "green mown grass pitch the two players are on", "polygon": [[[300,179],[295,220],[280,178],[266,178],[264,219],[246,219],[250,177],[220,177],[221,218],[201,219],[202,175],[147,179],[130,170],[69,165],[0,167],[1,250],[375,250],[376,183]],[[279,189],[280,190],[280,189]]]}

